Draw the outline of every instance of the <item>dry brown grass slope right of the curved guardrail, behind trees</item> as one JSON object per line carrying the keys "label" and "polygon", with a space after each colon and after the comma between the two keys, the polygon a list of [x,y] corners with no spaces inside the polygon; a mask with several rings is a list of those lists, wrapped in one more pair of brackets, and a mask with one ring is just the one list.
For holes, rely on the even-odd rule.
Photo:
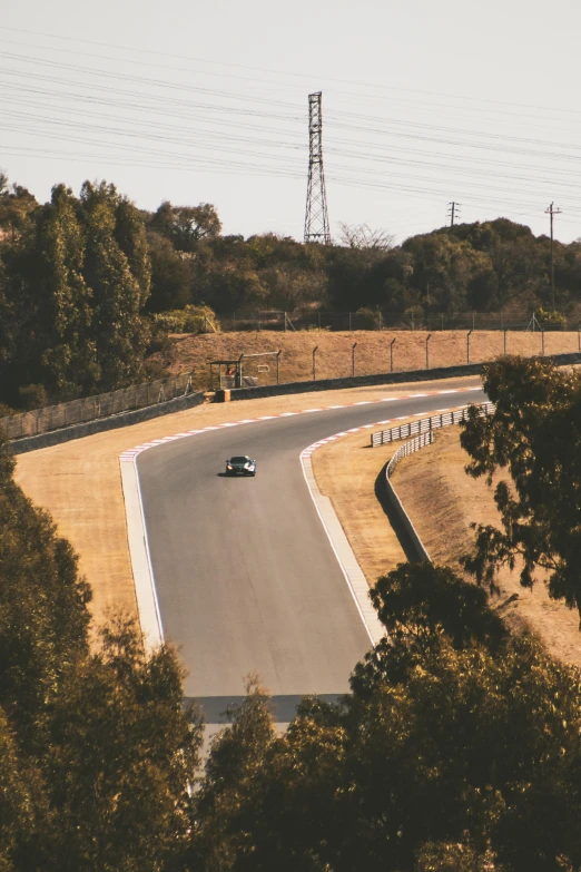
{"label": "dry brown grass slope right of the curved guardrail, behind trees", "polygon": [[[466,462],[460,430],[453,427],[436,433],[434,444],[403,460],[393,480],[432,560],[455,568],[459,568],[459,557],[472,546],[471,522],[500,526],[493,487],[489,488],[483,479],[466,476]],[[381,463],[378,458],[377,469]],[[502,608],[514,628],[524,624],[554,657],[581,666],[577,611],[550,599],[541,582],[532,590],[522,588],[516,571],[501,570],[499,586],[501,595],[494,598],[494,604]],[[513,595],[518,599],[503,608],[502,604]]]}

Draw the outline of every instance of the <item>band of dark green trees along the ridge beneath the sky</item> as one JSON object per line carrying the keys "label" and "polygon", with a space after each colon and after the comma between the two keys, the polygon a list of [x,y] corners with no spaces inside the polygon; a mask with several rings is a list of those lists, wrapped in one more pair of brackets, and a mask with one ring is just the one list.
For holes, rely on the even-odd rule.
{"label": "band of dark green trees along the ridge beneath the sky", "polygon": [[[396,313],[551,308],[550,241],[505,218],[304,245],[221,235],[214,206],[139,210],[106,183],[47,204],[0,174],[0,404],[38,408],[163,374],[175,316],[296,308]],[[581,243],[555,243],[555,302],[581,304]],[[185,312],[186,306],[188,311]],[[163,355],[161,355],[163,356]],[[2,406],[0,406],[2,411]]]}

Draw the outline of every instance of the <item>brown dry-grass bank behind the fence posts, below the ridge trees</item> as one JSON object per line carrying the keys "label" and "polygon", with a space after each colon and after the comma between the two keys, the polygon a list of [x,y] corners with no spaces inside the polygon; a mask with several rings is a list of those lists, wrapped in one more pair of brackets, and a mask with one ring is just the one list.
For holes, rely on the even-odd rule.
{"label": "brown dry-grass bank behind the fence posts, below the ridge trees", "polygon": [[[200,335],[174,335],[171,372],[193,371],[199,388],[209,386],[211,360],[236,360],[240,354],[282,351],[282,382],[309,381],[313,378],[313,350],[316,352],[317,379],[334,379],[352,373],[352,346],[355,347],[355,374],[390,372],[390,346],[393,340],[393,369],[397,371],[422,370],[426,366],[426,339],[423,331],[353,331],[329,333],[326,331],[274,331],[244,333],[207,333]],[[437,331],[427,342],[430,368],[466,363],[467,335],[465,331]],[[508,332],[506,351],[512,354],[541,354],[540,333]],[[577,332],[544,334],[545,354],[579,351]],[[502,331],[475,331],[470,337],[470,362],[494,360],[504,352]],[[155,355],[154,355],[155,359]],[[257,372],[257,366],[269,366],[268,372]],[[260,384],[276,381],[274,359],[252,359],[244,363],[248,375],[258,375]]]}

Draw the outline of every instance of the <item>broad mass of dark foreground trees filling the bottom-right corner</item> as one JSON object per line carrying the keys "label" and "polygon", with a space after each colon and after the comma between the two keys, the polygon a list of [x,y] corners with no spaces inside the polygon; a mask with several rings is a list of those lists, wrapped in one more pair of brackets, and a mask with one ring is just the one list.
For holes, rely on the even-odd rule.
{"label": "broad mass of dark foreground trees filling the bottom-right corner", "polygon": [[499,633],[483,591],[447,569],[398,567],[382,582],[394,636],[370,653],[364,686],[335,705],[305,699],[278,737],[250,688],[215,742],[193,868],[578,869],[578,670]]}

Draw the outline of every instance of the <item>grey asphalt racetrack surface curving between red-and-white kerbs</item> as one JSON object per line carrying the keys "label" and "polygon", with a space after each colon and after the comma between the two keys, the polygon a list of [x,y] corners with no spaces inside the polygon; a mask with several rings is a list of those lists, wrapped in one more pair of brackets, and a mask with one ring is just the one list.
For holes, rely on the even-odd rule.
{"label": "grey asphalt racetrack surface curving between red-and-white kerbs", "polygon": [[[433,390],[453,386],[437,382]],[[305,408],[333,402],[329,396],[305,396]],[[275,418],[139,455],[165,638],[178,645],[188,669],[185,693],[201,703],[208,723],[242,698],[249,673],[273,694],[277,719],[288,721],[303,695],[347,693],[351,670],[371,647],[308,492],[301,451],[353,427],[484,399],[475,388]],[[224,477],[234,454],[257,460],[256,478]]]}

